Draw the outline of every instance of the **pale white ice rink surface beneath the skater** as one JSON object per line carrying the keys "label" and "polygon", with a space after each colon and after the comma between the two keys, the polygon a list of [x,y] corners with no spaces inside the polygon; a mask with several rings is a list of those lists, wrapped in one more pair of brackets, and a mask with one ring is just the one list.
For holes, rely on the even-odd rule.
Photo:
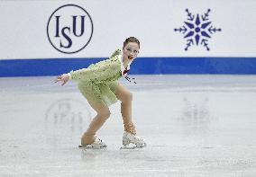
{"label": "pale white ice rink surface beneath the skater", "polygon": [[0,78],[0,176],[256,176],[256,75],[134,76],[135,150],[119,149],[120,102],[97,134],[107,148],[83,150],[96,113],[76,83]]}

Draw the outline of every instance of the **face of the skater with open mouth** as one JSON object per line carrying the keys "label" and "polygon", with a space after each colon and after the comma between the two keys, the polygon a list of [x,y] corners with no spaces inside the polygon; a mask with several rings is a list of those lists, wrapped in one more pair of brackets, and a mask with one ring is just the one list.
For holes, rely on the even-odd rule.
{"label": "face of the skater with open mouth", "polygon": [[139,44],[136,42],[128,42],[124,47],[123,47],[123,59],[133,61],[135,58],[137,58],[139,54]]}

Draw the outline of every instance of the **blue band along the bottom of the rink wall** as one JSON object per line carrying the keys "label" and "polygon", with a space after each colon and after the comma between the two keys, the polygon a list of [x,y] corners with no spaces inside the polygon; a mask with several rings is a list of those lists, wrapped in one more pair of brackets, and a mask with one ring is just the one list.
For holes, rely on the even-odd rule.
{"label": "blue band along the bottom of the rink wall", "polygon": [[[2,59],[0,76],[59,75],[105,58]],[[256,74],[256,58],[136,58],[130,74]]]}

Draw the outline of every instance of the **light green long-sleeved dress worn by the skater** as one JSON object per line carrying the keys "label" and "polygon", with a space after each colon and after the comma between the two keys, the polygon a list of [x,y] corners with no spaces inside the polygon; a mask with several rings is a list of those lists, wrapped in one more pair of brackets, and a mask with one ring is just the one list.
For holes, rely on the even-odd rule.
{"label": "light green long-sleeved dress worn by the skater", "polygon": [[78,89],[88,102],[107,106],[117,102],[115,90],[122,77],[120,55],[121,49],[116,49],[110,58],[70,72],[70,78],[78,82]]}

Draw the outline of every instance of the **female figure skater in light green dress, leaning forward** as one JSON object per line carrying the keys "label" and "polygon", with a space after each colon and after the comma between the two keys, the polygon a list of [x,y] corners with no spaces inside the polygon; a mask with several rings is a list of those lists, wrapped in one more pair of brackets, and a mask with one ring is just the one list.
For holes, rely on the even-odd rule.
{"label": "female figure skater in light green dress, leaning forward", "polygon": [[144,139],[136,136],[132,118],[133,93],[118,82],[118,79],[122,76],[125,76],[131,82],[127,73],[133,60],[139,54],[139,50],[140,41],[135,37],[127,38],[123,42],[123,51],[116,49],[110,58],[92,64],[87,68],[59,75],[55,80],[55,83],[63,82],[61,85],[66,84],[69,79],[77,81],[78,89],[97,113],[87,131],[81,137],[81,146],[96,148],[106,146],[103,140],[96,137],[96,131],[110,117],[108,107],[117,100],[121,101],[124,125],[123,146],[128,146],[130,143],[135,145],[133,147],[146,146]]}

